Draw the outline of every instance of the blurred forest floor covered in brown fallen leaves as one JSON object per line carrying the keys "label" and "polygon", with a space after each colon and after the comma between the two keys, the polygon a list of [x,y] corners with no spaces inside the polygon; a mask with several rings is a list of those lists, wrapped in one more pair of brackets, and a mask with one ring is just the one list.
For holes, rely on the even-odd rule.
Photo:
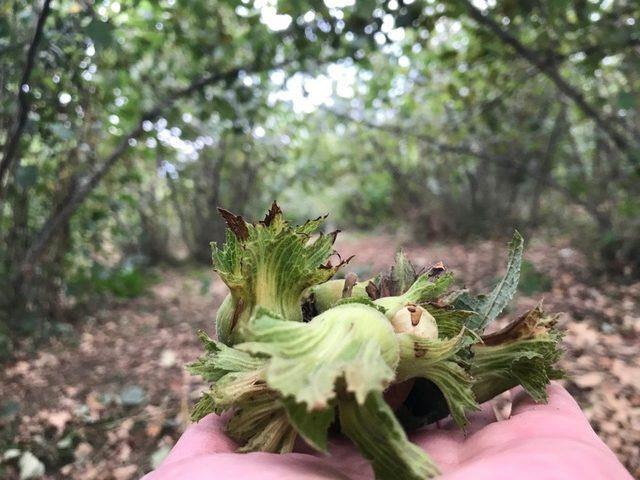
{"label": "blurred forest floor covered in brown fallen leaves", "polygon": [[[366,278],[390,264],[399,245],[385,236],[346,235],[337,249],[356,254],[350,270]],[[472,289],[488,287],[505,263],[505,246],[405,245],[418,265],[442,260]],[[640,284],[605,283],[587,273],[566,245],[533,242],[509,315],[544,299],[564,312],[564,385],[593,428],[640,478]],[[158,465],[188,423],[203,384],[186,362],[201,351],[195,332],[213,331],[224,285],[207,269],[162,270],[142,297],[110,301],[37,353],[19,354],[0,373],[0,477],[18,465],[44,478],[139,478]],[[528,293],[528,294],[525,294]]]}

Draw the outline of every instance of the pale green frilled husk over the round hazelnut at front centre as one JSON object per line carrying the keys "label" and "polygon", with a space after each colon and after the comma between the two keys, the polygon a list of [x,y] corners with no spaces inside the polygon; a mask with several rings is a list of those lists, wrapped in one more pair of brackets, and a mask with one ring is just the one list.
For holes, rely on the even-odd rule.
{"label": "pale green frilled husk over the round hazelnut at front centre", "polygon": [[369,392],[389,385],[398,363],[398,344],[387,318],[360,303],[333,307],[309,323],[288,322],[260,310],[242,336],[247,341],[238,349],[269,357],[269,386],[309,411],[327,408],[340,378],[364,403]]}

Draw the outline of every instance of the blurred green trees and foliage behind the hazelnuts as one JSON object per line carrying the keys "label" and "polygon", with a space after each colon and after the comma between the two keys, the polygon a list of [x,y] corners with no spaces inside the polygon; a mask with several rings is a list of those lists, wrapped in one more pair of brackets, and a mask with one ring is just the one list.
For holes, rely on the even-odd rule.
{"label": "blurred green trees and foliage behind the hazelnuts", "polygon": [[208,263],[218,205],[274,198],[420,243],[561,235],[637,278],[638,21],[634,0],[3,1],[0,345]]}

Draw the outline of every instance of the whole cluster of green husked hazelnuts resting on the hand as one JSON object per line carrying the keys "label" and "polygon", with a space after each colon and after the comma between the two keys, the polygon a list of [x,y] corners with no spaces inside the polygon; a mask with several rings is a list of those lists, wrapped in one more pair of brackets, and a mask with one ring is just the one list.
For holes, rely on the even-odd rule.
{"label": "whole cluster of green husked hazelnuts resting on the hand", "polygon": [[[370,281],[329,281],[335,237],[310,237],[322,218],[291,227],[275,204],[257,224],[222,213],[230,231],[213,256],[230,294],[219,339],[201,334],[206,353],[189,366],[211,382],[192,418],[229,411],[226,430],[242,452],[290,452],[298,435],[326,452],[337,415],[376,478],[431,478],[436,467],[403,426],[447,415],[464,426],[479,402],[518,384],[544,401],[561,374],[560,336],[541,308],[480,336],[515,293],[517,232],[504,278],[472,297],[447,295],[454,280],[442,263],[418,275],[402,252]],[[383,392],[400,383],[409,393],[394,413]]]}

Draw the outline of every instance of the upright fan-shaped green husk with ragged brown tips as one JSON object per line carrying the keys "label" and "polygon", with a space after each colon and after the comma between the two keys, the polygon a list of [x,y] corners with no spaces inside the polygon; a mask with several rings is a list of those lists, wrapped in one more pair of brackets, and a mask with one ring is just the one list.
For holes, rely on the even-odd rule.
{"label": "upright fan-shaped green husk with ragged brown tips", "polygon": [[229,230],[223,246],[212,244],[215,271],[229,287],[231,299],[218,315],[219,339],[232,344],[241,339],[238,326],[257,306],[290,321],[301,321],[301,297],[308,287],[329,280],[342,262],[331,264],[335,234],[311,238],[323,218],[297,227],[289,225],[274,203],[256,224],[220,210]]}

